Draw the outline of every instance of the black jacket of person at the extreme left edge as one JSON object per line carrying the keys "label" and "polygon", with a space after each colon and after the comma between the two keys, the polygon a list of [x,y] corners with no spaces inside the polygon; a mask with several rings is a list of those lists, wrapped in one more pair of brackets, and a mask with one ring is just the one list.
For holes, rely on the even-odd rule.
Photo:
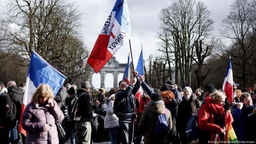
{"label": "black jacket of person at the extreme left edge", "polygon": [[11,110],[11,98],[8,94],[0,96],[0,126],[7,126],[9,121],[9,113]]}

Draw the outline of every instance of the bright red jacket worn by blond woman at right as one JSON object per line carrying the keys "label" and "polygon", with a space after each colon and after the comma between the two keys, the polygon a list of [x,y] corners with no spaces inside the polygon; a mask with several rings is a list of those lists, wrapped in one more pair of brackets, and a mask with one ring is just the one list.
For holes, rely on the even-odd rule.
{"label": "bright red jacket worn by blond woman at right", "polygon": [[[217,117],[221,117],[224,112],[223,106],[218,106],[212,102],[211,97],[207,97],[205,99],[205,104],[201,106],[198,112],[198,128],[207,132],[211,132],[210,141],[214,141],[216,133],[220,134],[223,127],[214,124],[214,115],[213,112],[217,115]],[[210,122],[209,122],[210,118]],[[230,112],[226,112],[225,114],[225,125],[229,126],[233,122],[233,118]],[[227,129],[227,128],[226,128]],[[226,130],[227,136],[227,130]],[[218,137],[218,140],[220,138]]]}

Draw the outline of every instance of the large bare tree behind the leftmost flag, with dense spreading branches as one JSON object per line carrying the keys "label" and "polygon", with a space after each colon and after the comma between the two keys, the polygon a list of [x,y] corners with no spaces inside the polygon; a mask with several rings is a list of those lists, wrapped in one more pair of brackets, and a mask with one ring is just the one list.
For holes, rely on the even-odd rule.
{"label": "large bare tree behind the leftmost flag, with dense spreading branches", "polygon": [[14,52],[30,58],[35,50],[72,79],[88,70],[85,63],[88,50],[81,40],[80,14],[75,3],[66,0],[10,0],[6,15],[14,25],[10,30]]}

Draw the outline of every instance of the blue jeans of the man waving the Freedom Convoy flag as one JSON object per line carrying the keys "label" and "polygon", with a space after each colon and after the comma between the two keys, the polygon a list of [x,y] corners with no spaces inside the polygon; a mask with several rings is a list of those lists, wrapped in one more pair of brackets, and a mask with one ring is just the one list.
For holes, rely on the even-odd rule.
{"label": "blue jeans of the man waving the Freedom Convoy flag", "polygon": [[134,122],[119,122],[118,135],[116,141],[118,144],[132,144]]}

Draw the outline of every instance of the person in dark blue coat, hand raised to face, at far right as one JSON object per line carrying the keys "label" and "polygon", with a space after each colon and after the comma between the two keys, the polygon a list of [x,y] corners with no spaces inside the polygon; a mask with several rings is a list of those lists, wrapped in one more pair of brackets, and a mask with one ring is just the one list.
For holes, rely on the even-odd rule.
{"label": "person in dark blue coat, hand raised to face, at far right", "polygon": [[236,132],[237,139],[240,141],[249,141],[249,116],[254,110],[251,95],[248,92],[243,92],[240,97],[240,102],[235,106],[236,108],[232,113],[234,118],[232,126]]}

